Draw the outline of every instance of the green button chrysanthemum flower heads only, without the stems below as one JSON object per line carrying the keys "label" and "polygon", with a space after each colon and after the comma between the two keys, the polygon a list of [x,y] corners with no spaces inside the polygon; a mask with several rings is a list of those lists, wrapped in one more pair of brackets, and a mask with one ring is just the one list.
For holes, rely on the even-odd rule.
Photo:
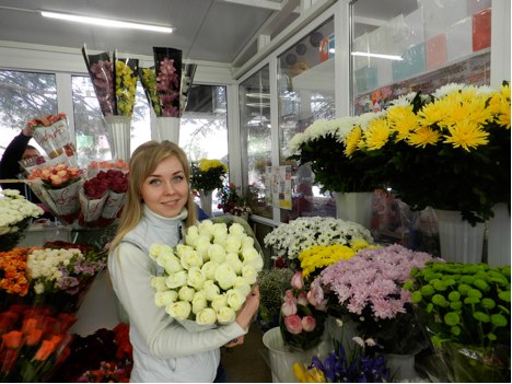
{"label": "green button chrysanthemum flower heads only, without the stems below", "polygon": [[411,270],[404,289],[435,347],[510,346],[510,266],[429,263]]}

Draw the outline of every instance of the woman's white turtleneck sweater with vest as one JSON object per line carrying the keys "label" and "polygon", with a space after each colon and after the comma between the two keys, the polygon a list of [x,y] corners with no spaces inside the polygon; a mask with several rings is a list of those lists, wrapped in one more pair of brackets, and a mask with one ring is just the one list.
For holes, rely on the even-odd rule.
{"label": "woman's white turtleneck sweater with vest", "polygon": [[130,323],[133,347],[131,382],[212,382],[220,347],[246,333],[236,323],[190,333],[154,303],[151,278],[162,268],[148,254],[154,244],[175,246],[187,211],[164,218],[143,206],[139,224],[108,257],[114,291]]}

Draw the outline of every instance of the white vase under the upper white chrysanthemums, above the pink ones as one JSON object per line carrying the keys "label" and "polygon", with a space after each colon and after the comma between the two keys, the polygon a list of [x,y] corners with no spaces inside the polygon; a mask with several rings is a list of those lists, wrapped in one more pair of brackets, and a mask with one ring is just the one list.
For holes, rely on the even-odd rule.
{"label": "white vase under the upper white chrysanthemums, above the pink ones", "polygon": [[361,224],[370,230],[373,216],[373,191],[336,193],[336,218]]}

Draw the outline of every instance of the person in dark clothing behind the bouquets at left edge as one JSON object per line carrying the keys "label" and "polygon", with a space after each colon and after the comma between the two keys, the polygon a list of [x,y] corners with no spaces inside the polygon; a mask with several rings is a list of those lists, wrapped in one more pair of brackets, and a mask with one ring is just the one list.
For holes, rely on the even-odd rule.
{"label": "person in dark clothing behind the bouquets at left edge", "polygon": [[[0,160],[0,179],[18,178],[18,175],[23,173],[20,161],[40,155],[35,147],[28,144],[33,133],[34,131],[32,128],[26,126],[5,148],[2,159]],[[18,189],[27,200],[40,205],[40,200],[32,193],[31,188],[25,183],[1,183],[0,185],[2,189]]]}

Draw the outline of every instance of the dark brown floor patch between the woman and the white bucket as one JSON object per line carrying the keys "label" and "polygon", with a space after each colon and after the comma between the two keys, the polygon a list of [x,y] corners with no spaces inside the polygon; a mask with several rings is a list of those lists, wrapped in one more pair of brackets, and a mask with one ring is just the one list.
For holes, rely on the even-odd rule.
{"label": "dark brown floor patch between the woman and the white bucket", "polygon": [[263,344],[263,331],[256,323],[245,335],[244,344],[226,350],[222,348],[222,366],[228,383],[270,383],[270,369],[265,361],[266,347]]}

